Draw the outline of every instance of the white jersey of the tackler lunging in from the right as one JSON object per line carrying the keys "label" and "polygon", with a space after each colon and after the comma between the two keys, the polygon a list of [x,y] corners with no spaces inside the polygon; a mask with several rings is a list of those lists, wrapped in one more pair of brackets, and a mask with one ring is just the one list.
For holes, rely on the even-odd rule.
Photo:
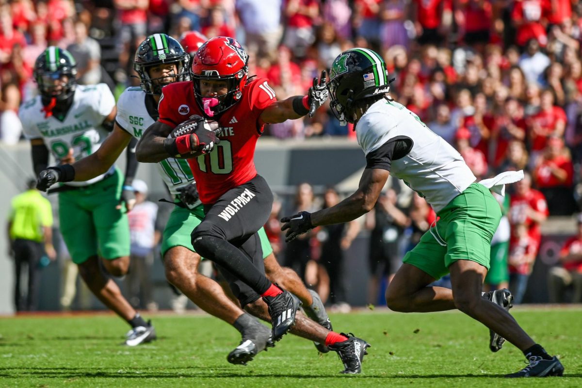
{"label": "white jersey of the tackler lunging in from the right", "polygon": [[409,137],[410,152],[393,160],[390,172],[424,197],[435,212],[475,181],[459,152],[398,102],[375,102],[357,123],[356,134],[366,156],[393,138]]}

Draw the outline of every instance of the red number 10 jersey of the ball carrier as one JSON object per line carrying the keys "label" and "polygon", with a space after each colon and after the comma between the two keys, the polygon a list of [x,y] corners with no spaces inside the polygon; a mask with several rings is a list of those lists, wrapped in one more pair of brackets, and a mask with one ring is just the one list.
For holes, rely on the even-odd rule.
{"label": "red number 10 jersey of the ball carrier", "polygon": [[[257,175],[254,151],[265,125],[260,116],[276,101],[275,92],[264,78],[251,80],[242,92],[240,101],[219,116],[218,123],[223,129],[220,144],[209,154],[187,159],[203,204],[214,204],[226,191]],[[158,113],[159,122],[172,127],[193,115],[204,116],[191,81],[165,86]]]}

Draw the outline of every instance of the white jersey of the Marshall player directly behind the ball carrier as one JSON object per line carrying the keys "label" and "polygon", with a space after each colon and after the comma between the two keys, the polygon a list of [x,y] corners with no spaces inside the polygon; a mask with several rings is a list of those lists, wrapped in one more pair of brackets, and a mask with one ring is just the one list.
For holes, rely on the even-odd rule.
{"label": "white jersey of the Marshall player directly behind the ball carrier", "polygon": [[[115,121],[118,126],[138,139],[157,120],[158,116],[154,100],[149,99],[148,102],[146,97],[147,94],[140,87],[129,87],[123,91],[117,102]],[[164,179],[164,183],[174,198],[179,194],[179,188],[194,181],[194,175],[186,159],[168,158],[157,165],[159,175]]]}

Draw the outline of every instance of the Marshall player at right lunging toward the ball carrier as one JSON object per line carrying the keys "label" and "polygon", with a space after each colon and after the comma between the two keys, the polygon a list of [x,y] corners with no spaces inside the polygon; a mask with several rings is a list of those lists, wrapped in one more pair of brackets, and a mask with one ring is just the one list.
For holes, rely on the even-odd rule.
{"label": "Marshall player at right lunging toward the ball carrier", "polygon": [[[388,307],[402,312],[460,309],[491,330],[491,350],[499,350],[501,336],[526,355],[526,368],[506,377],[561,376],[564,368],[558,358],[549,356],[509,314],[509,291],[481,293],[491,239],[501,219],[488,187],[501,191],[502,183],[519,180],[520,173],[477,183],[459,152],[386,95],[388,71],[376,52],[343,52],[329,77],[332,111],[342,124],[354,124],[367,165],[358,190],[338,205],[283,218],[286,240],[367,213],[392,173],[424,197],[439,220],[404,257],[386,290]],[[428,286],[449,272],[452,290]]]}

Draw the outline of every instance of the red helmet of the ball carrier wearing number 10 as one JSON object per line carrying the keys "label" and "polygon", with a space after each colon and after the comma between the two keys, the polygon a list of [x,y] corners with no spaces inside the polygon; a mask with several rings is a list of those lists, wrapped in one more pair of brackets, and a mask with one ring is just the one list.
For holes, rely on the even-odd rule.
{"label": "red helmet of the ball carrier wearing number 10", "polygon": [[242,97],[242,90],[247,83],[248,63],[249,55],[233,38],[215,37],[205,42],[192,59],[191,72],[194,94],[200,108],[205,112],[208,109],[208,104],[206,109],[204,107],[204,99],[208,98],[200,94],[201,80],[223,80],[228,83],[228,92],[217,96],[218,104],[210,107],[214,115],[236,104]]}

